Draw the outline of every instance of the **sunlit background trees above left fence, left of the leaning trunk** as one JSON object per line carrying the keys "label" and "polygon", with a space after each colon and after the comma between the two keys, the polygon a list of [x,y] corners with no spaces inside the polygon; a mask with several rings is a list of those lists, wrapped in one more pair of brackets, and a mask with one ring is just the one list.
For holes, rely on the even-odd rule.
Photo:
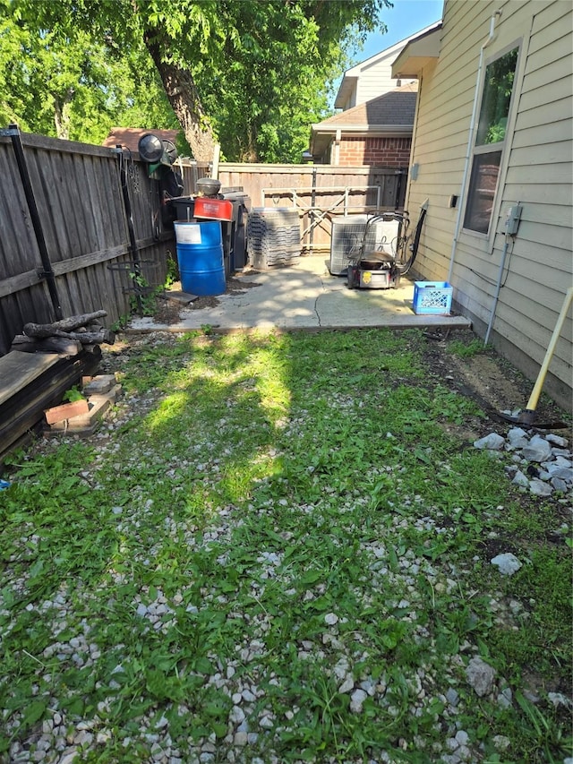
{"label": "sunlit background trees above left fence, left of the leaning trunk", "polygon": [[0,0],[0,124],[101,142],[115,124],[177,126],[144,48],[120,51],[81,27],[38,29]]}

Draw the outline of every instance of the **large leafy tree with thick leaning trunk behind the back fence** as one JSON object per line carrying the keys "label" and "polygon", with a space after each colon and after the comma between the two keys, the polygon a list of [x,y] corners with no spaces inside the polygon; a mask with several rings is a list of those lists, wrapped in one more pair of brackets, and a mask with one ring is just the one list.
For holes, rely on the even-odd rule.
{"label": "large leafy tree with thick leaning trunk behind the back fence", "polygon": [[[216,131],[237,159],[280,159],[325,105],[324,83],[388,0],[4,0],[41,36],[73,38],[155,64],[195,159]],[[311,117],[310,119],[308,117]],[[287,126],[288,125],[288,128]],[[300,137],[299,137],[300,142]],[[284,157],[286,159],[286,156]]]}

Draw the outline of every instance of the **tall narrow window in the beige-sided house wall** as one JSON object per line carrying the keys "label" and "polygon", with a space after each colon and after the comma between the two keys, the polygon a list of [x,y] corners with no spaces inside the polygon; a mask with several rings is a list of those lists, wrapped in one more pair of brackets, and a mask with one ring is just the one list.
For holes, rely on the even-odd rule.
{"label": "tall narrow window in the beige-sided house wall", "polygon": [[487,234],[492,222],[518,52],[519,48],[514,47],[485,68],[482,107],[464,216],[464,227],[480,234]]}

